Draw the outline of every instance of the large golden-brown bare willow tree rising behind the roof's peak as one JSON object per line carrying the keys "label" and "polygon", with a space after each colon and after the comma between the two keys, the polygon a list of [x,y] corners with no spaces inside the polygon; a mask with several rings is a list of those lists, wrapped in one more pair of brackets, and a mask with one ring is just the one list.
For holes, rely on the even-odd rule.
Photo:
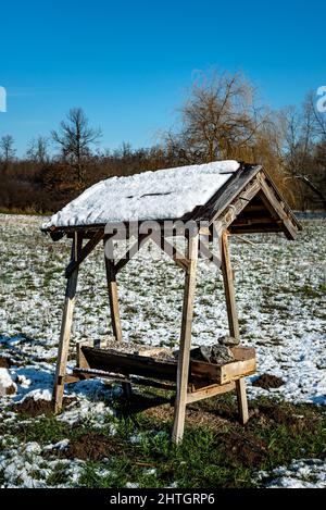
{"label": "large golden-brown bare willow tree rising behind the roof's peak", "polygon": [[189,161],[230,158],[254,145],[265,121],[254,88],[240,74],[202,74],[180,110],[181,128],[168,133],[168,150]]}

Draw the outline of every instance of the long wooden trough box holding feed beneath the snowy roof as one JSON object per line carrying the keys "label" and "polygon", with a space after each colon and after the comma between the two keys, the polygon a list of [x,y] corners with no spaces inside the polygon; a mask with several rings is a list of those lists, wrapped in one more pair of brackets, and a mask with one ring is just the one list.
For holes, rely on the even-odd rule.
{"label": "long wooden trough box holding feed beneath the snowy roof", "polygon": [[[187,400],[201,400],[235,388],[235,381],[255,372],[255,351],[251,347],[233,347],[234,361],[217,365],[191,360],[188,374]],[[130,375],[133,374],[133,375]],[[149,356],[124,353],[114,349],[95,347],[93,343],[77,343],[77,365],[70,382],[92,376],[137,383],[145,386],[176,389],[177,361],[161,360]]]}

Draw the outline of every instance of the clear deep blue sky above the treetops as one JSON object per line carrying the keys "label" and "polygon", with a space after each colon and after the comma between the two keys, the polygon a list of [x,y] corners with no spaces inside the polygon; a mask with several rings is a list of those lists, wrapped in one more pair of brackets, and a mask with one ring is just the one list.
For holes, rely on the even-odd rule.
{"label": "clear deep blue sky above the treetops", "polygon": [[18,153],[82,107],[101,146],[155,141],[193,71],[242,70],[273,108],[326,85],[326,2],[13,0],[0,3],[0,136]]}

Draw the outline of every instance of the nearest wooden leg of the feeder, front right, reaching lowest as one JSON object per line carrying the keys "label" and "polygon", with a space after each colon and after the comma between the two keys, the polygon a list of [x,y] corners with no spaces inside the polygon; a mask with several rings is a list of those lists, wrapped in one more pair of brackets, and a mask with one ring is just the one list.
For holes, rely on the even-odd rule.
{"label": "nearest wooden leg of the feeder, front right, reaching lowest", "polygon": [[187,258],[190,260],[185,278],[185,295],[183,308],[183,324],[180,335],[180,349],[177,368],[177,391],[174,408],[174,424],[172,440],[178,444],[183,439],[186,418],[188,394],[188,375],[191,347],[191,328],[193,316],[193,300],[196,289],[196,271],[198,261],[198,234],[189,234]]}

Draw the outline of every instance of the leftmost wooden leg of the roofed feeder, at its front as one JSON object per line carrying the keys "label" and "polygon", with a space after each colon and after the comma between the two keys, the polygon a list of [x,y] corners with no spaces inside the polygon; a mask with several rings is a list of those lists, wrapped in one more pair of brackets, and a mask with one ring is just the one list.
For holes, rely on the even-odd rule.
{"label": "leftmost wooden leg of the roofed feeder, at its front", "polygon": [[[72,262],[76,261],[76,256],[78,257],[78,254],[80,253],[82,244],[83,244],[83,238],[76,234],[74,241],[73,241],[73,248],[72,248]],[[77,265],[76,269],[71,273],[66,283],[65,301],[64,301],[64,309],[63,309],[62,323],[61,323],[59,351],[58,351],[57,370],[55,370],[54,388],[53,388],[53,403],[54,403],[55,413],[60,412],[62,409],[64,377],[66,375],[66,363],[67,363],[68,349],[70,349],[73,312],[74,312],[76,287],[77,287],[77,279],[78,279],[78,269],[79,266]]]}

